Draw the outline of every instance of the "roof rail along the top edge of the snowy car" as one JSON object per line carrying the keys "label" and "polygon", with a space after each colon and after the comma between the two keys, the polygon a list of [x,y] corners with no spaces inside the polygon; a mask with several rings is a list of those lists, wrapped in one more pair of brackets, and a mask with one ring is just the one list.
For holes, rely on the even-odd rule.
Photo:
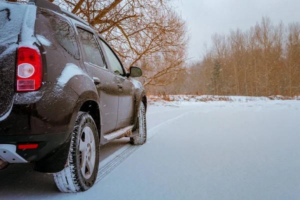
{"label": "roof rail along the top edge of the snowy car", "polygon": [[58,12],[60,14],[65,14],[77,21],[80,21],[82,23],[84,23],[85,25],[89,26],[89,23],[84,21],[83,19],[81,19],[80,17],[76,16],[75,14],[73,14],[72,12],[67,11],[66,9],[63,9],[61,7],[59,7],[58,5],[55,5],[54,3],[51,3],[47,0],[29,0],[28,4],[34,4],[38,7],[42,7],[42,8],[47,8],[49,10],[53,10],[55,12]]}

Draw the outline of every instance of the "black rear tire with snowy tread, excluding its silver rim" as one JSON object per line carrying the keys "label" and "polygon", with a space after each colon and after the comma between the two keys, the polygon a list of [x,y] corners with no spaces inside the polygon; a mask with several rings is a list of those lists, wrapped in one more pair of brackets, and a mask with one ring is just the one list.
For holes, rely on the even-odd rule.
{"label": "black rear tire with snowy tread, excluding its silver rim", "polygon": [[[81,172],[80,162],[82,160],[81,157],[82,153],[80,153],[79,151],[80,140],[82,141],[81,137],[85,138],[84,135],[87,134],[84,133],[83,131],[83,129],[86,129],[86,127],[87,129],[88,128],[91,129],[94,137],[91,139],[94,139],[94,144],[95,144],[95,154],[93,150],[93,155],[95,155],[95,161],[94,161],[93,169],[91,170],[92,172],[88,173],[90,175],[89,178],[84,177],[84,175],[86,175],[87,173],[82,174]],[[86,142],[86,146],[88,146],[87,143],[88,142]],[[91,151],[89,151],[89,153],[87,153],[87,151],[85,152],[86,153],[84,155],[86,155],[86,159],[87,159],[88,155],[91,154],[90,153]],[[91,159],[90,156],[89,159]],[[82,192],[89,189],[95,183],[97,173],[98,173],[98,165],[99,165],[99,138],[98,138],[96,125],[92,117],[88,113],[79,112],[72,133],[67,166],[62,171],[53,174],[54,181],[56,183],[57,188],[61,192]],[[82,167],[82,169],[84,171],[86,170],[85,164],[84,167]]]}

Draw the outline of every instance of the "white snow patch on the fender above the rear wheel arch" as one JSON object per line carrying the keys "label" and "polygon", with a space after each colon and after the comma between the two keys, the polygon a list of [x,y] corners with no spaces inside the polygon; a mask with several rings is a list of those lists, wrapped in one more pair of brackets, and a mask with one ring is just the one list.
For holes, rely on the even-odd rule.
{"label": "white snow patch on the fender above the rear wheel arch", "polygon": [[75,75],[86,75],[88,76],[82,69],[80,69],[77,65],[73,63],[67,63],[63,68],[60,76],[57,78],[57,83],[60,86],[64,86],[67,81],[75,76]]}

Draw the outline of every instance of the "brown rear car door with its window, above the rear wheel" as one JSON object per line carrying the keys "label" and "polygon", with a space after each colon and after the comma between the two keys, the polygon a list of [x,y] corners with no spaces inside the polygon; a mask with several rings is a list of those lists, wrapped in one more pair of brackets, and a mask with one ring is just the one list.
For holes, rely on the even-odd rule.
{"label": "brown rear car door with its window, above the rear wheel", "polygon": [[99,44],[92,30],[77,26],[77,32],[85,53],[84,65],[93,78],[100,99],[102,133],[113,131],[117,122],[119,91],[114,76],[108,71]]}

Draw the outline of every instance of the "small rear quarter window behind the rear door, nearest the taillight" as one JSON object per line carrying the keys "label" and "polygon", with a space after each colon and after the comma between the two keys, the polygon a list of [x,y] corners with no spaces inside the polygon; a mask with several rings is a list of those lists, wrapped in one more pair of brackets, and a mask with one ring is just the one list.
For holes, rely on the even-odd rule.
{"label": "small rear quarter window behind the rear door, nearest the taillight", "polygon": [[70,24],[64,20],[52,19],[55,38],[58,43],[75,59],[79,59],[76,37]]}

